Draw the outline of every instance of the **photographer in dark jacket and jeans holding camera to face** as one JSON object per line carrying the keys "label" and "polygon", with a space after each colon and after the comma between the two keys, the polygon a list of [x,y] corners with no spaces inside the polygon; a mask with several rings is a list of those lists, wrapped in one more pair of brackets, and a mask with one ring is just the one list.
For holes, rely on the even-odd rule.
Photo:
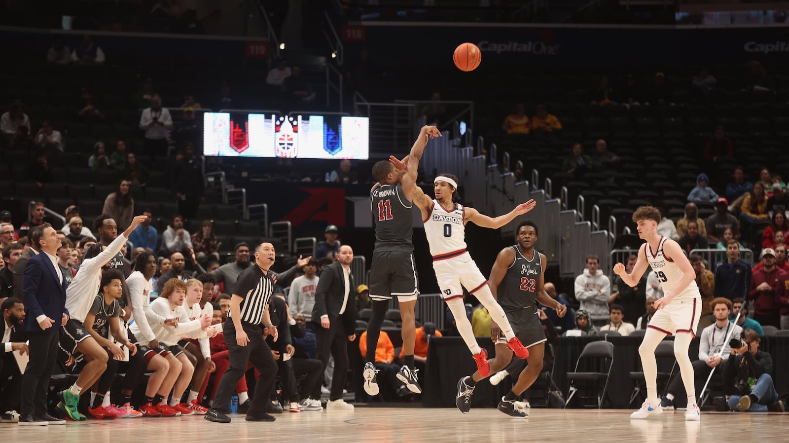
{"label": "photographer in dark jacket and jeans holding camera to face", "polygon": [[779,411],[785,407],[772,385],[772,357],[759,351],[761,339],[753,329],[732,338],[731,358],[724,364],[724,393],[732,411]]}

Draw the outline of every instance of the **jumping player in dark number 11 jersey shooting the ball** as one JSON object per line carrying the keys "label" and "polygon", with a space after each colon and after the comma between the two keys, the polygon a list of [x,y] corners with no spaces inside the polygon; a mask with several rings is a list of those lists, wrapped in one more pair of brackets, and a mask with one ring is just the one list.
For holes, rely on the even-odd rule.
{"label": "jumping player in dark number 11 jersey shooting the ball", "polygon": [[[365,356],[365,392],[371,396],[378,394],[376,382],[376,347],[380,336],[383,317],[389,307],[389,300],[397,297],[402,318],[402,348],[406,364],[397,377],[406,384],[411,392],[422,392],[417,383],[417,371],[413,366],[413,347],[416,343],[417,328],[414,324],[414,306],[417,305],[419,288],[417,268],[413,263],[413,204],[411,194],[417,186],[417,168],[428,140],[441,137],[436,126],[423,126],[411,152],[402,161],[406,171],[397,171],[389,160],[382,160],[372,167],[372,178],[376,186],[370,190],[370,209],[376,223],[376,246],[372,252],[370,266],[370,298],[372,298],[372,317],[367,327],[367,355]],[[394,156],[391,157],[394,159]]]}

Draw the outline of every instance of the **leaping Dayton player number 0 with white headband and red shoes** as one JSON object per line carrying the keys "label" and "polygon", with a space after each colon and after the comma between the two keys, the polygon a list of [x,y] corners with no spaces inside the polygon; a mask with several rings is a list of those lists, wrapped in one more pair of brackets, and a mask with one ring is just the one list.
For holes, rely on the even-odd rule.
{"label": "leaping Dayton player number 0 with white headband and red shoes", "polygon": [[[399,165],[397,160],[391,161],[396,168],[402,169],[402,165]],[[515,217],[531,211],[537,203],[529,200],[503,216],[491,218],[481,214],[477,209],[466,208],[454,202],[455,191],[458,189],[458,178],[454,175],[441,174],[433,183],[436,199],[432,200],[417,186],[412,193],[413,203],[422,212],[424,235],[428,238],[430,253],[433,256],[433,269],[436,271],[436,279],[444,302],[447,302],[454,315],[458,332],[466,341],[466,346],[477,362],[477,369],[482,377],[488,377],[490,372],[488,352],[477,344],[471,323],[466,317],[463,287],[466,287],[469,294],[477,297],[482,306],[488,309],[492,321],[501,327],[504,336],[507,337],[507,345],[518,359],[528,357],[529,351],[515,336],[510,321],[507,320],[507,314],[493,298],[488,287],[488,279],[482,275],[477,264],[466,251],[466,223],[470,221],[477,226],[497,229],[510,223]]]}

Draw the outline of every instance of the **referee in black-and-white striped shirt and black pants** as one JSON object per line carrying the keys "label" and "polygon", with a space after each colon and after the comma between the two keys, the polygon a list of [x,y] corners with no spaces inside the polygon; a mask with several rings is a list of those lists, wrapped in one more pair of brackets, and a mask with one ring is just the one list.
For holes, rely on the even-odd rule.
{"label": "referee in black-and-white striped shirt and black pants", "polygon": [[255,263],[246,268],[238,280],[230,298],[230,310],[223,326],[227,350],[230,352],[230,369],[227,370],[216,391],[211,409],[205,415],[209,422],[229,423],[226,405],[230,401],[236,383],[244,377],[247,362],[260,371],[252,396],[252,404],[246,415],[248,422],[273,422],[274,417],[266,414],[271,389],[277,375],[277,362],[271,348],[263,338],[260,325],[267,325],[269,334],[277,340],[277,328],[271,324],[268,302],[274,292],[275,250],[271,243],[261,243],[255,249]]}

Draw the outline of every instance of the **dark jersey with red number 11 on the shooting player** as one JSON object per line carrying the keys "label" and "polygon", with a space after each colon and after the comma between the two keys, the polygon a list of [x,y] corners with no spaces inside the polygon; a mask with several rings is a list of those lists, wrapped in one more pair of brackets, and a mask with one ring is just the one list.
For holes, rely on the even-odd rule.
{"label": "dark jersey with red number 11 on the shooting player", "polygon": [[370,194],[370,210],[376,223],[376,251],[413,252],[413,204],[402,186],[381,185]]}

